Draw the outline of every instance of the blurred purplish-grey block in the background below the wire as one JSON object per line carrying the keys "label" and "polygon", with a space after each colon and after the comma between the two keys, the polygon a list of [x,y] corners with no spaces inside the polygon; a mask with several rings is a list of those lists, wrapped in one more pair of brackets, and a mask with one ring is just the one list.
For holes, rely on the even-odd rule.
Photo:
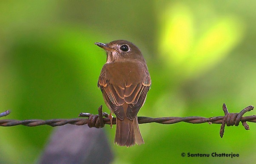
{"label": "blurred purplish-grey block in the background below the wire", "polygon": [[108,164],[113,153],[103,129],[64,125],[53,131],[39,164]]}

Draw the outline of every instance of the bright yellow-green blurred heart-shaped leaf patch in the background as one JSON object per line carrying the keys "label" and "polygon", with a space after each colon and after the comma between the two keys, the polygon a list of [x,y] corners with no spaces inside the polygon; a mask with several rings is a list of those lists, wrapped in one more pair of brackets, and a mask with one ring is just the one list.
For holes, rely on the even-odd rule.
{"label": "bright yellow-green blurred heart-shaped leaf patch in the background", "polygon": [[241,41],[243,24],[234,17],[222,16],[195,25],[196,17],[188,6],[175,4],[165,10],[162,18],[165,26],[159,38],[159,52],[180,77],[195,77],[212,68]]}

